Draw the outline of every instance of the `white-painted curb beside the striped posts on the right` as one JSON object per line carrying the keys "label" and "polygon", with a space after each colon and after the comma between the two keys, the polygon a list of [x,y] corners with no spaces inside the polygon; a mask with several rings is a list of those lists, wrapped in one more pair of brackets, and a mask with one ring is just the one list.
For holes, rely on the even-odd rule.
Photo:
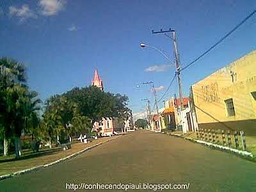
{"label": "white-painted curb beside the striped posts on the right", "polygon": [[[170,133],[169,135],[176,136],[176,137],[179,137],[179,138],[184,138],[184,136],[182,136],[180,134]],[[191,141],[193,143],[200,143],[200,144],[205,145],[207,147],[224,150],[226,152],[232,152],[232,153],[237,154],[241,157],[246,157],[246,159],[252,159],[253,158],[253,154],[251,152],[248,152],[248,151],[238,150],[236,148],[225,147],[225,146],[222,146],[222,145],[216,145],[216,144],[209,143],[209,142],[202,141],[202,140],[195,140],[193,138],[184,138],[184,139],[188,140],[188,141]]]}

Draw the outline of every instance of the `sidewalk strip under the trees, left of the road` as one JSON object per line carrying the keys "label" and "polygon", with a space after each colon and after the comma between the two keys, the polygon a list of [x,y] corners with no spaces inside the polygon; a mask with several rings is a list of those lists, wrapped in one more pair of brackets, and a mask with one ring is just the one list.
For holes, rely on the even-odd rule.
{"label": "sidewalk strip under the trees, left of the road", "polygon": [[26,170],[35,166],[40,166],[44,164],[49,164],[63,157],[75,154],[84,148],[92,147],[99,143],[105,143],[113,138],[119,138],[122,135],[99,138],[98,140],[93,140],[90,143],[72,143],[72,148],[70,150],[62,151],[61,148],[47,148],[36,154],[31,154],[31,156],[24,156],[20,159],[8,159],[0,157],[0,176],[18,172],[20,170]]}

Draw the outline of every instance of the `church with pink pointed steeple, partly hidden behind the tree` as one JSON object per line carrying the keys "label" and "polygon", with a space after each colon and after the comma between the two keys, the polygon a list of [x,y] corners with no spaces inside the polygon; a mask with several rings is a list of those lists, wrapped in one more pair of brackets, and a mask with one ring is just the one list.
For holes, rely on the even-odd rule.
{"label": "church with pink pointed steeple, partly hidden behind the tree", "polygon": [[[94,72],[94,77],[92,79],[92,85],[97,86],[103,92],[103,81],[100,79],[97,70]],[[113,134],[114,126],[113,126],[113,118],[111,117],[102,117],[100,122],[95,122],[93,124],[93,130],[100,132],[101,134],[110,135]]]}

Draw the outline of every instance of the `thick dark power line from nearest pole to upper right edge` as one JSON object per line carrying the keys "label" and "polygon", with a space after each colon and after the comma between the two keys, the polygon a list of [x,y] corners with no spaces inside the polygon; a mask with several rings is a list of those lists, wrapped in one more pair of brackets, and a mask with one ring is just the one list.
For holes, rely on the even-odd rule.
{"label": "thick dark power line from nearest pole to upper right edge", "polygon": [[225,36],[223,36],[218,42],[216,42],[216,44],[212,45],[207,51],[205,51],[203,54],[201,54],[200,56],[198,56],[198,58],[196,58],[194,61],[192,61],[191,63],[189,63],[188,65],[186,65],[185,67],[181,68],[180,71],[188,68],[189,66],[193,65],[193,63],[195,63],[196,61],[200,60],[200,58],[202,58],[203,56],[205,56],[205,54],[207,54],[208,52],[210,52],[214,47],[216,47],[218,44],[220,44],[221,42],[223,42],[223,40],[225,40],[225,38],[227,38],[229,35],[231,35],[234,31],[236,31],[236,29],[238,29],[241,25],[244,24],[244,22],[246,22],[246,20],[250,19],[250,17],[252,17],[254,14],[256,13],[256,10],[254,10],[250,15],[248,15],[244,20],[242,20],[241,22],[239,22],[239,24],[236,25],[235,28],[233,28],[231,31],[229,31]]}

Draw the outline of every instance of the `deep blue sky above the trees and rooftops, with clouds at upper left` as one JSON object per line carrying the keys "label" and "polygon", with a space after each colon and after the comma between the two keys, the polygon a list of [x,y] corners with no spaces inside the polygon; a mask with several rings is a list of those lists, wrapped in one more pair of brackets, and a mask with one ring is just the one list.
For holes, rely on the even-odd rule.
{"label": "deep blue sky above the trees and rooftops, with clouds at upper left", "polygon": [[[175,29],[181,65],[202,54],[256,8],[246,1],[1,1],[0,56],[22,61],[28,83],[45,100],[74,86],[91,84],[98,69],[105,90],[128,95],[129,106],[140,113],[153,99],[154,81],[161,97],[175,69],[147,72],[168,65],[159,52],[141,49],[140,42],[158,47],[173,58],[173,42],[151,30]],[[184,95],[189,86],[218,68],[255,50],[256,16],[182,73]],[[177,82],[165,99],[177,93]],[[153,102],[153,100],[152,100]],[[160,106],[163,106],[161,102]]]}

